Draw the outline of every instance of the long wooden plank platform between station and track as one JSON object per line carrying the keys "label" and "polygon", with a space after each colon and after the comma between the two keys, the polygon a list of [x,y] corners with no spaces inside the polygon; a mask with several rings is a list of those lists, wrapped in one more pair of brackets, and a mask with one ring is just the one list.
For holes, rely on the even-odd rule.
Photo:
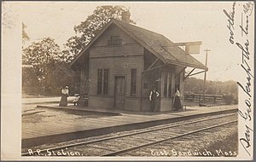
{"label": "long wooden plank platform between station and track", "polygon": [[[45,108],[63,108],[52,106],[40,106]],[[92,111],[91,109],[78,107],[65,107],[73,111]],[[132,130],[156,124],[170,123],[183,119],[194,118],[195,116],[205,116],[213,113],[236,112],[237,105],[221,107],[187,107],[187,111],[181,112],[125,112],[110,111],[103,109],[93,109],[95,112],[120,113],[121,116],[109,116],[96,119],[70,119],[55,123],[22,123],[22,148],[37,145],[44,142],[61,142],[67,139],[79,137],[98,136],[120,130]],[[41,141],[41,142],[38,142]]]}

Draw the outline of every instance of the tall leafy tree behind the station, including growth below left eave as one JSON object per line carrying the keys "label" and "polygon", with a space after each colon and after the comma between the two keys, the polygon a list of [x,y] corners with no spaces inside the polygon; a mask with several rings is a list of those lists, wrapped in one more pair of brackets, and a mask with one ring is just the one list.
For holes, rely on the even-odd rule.
{"label": "tall leafy tree behind the station, including growth below left eave", "polygon": [[[129,9],[119,5],[98,6],[93,11],[93,14],[89,15],[86,20],[82,21],[78,26],[74,26],[76,35],[67,40],[67,43],[64,44],[66,49],[62,51],[66,61],[68,63],[72,61],[73,58],[78,55],[97,34],[99,34],[102,28],[106,26],[110,20],[121,20],[122,13],[126,11],[129,11]],[[133,20],[131,20],[131,23],[135,24]],[[88,66],[84,65],[84,68],[85,67],[88,68]],[[76,79],[77,81],[75,84],[79,85],[80,95],[85,95],[86,87],[88,87],[88,76],[84,75],[81,71],[76,75],[83,76],[80,79]]]}

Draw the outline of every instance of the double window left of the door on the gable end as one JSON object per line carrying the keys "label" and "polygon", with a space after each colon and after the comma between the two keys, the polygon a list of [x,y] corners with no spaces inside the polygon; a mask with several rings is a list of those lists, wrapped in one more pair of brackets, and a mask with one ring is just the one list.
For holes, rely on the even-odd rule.
{"label": "double window left of the door on the gable end", "polygon": [[97,95],[108,95],[108,69],[98,69]]}

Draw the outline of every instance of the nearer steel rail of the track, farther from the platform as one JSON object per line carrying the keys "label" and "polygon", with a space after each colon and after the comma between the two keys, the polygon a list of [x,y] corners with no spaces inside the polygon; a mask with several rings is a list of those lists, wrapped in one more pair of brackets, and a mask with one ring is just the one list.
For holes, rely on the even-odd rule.
{"label": "nearer steel rail of the track, farther from the platform", "polygon": [[140,148],[147,148],[148,146],[152,146],[152,145],[155,145],[155,144],[158,144],[158,143],[161,143],[161,142],[170,141],[170,140],[180,138],[180,137],[183,137],[183,136],[189,136],[191,134],[195,134],[195,133],[205,131],[205,130],[210,130],[210,129],[213,129],[213,128],[216,128],[216,127],[224,126],[226,124],[236,123],[237,121],[238,120],[233,120],[233,121],[230,121],[230,122],[226,122],[224,124],[217,124],[217,125],[213,125],[213,126],[210,126],[210,127],[207,127],[207,128],[200,129],[200,130],[189,131],[188,133],[183,133],[182,135],[172,136],[170,138],[166,138],[166,139],[159,140],[159,141],[156,141],[156,142],[149,142],[147,144],[143,144],[143,145],[132,147],[132,148],[126,148],[126,149],[116,151],[116,152],[113,152],[113,153],[106,153],[106,154],[103,154],[102,156],[116,156],[118,154],[135,151],[135,150],[140,149]]}

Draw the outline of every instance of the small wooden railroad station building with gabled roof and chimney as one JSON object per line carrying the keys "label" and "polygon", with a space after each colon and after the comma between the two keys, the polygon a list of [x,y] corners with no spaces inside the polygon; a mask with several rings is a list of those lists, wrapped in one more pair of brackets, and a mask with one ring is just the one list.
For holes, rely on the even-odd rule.
{"label": "small wooden railroad station building with gabled roof and chimney", "polygon": [[149,111],[155,87],[156,111],[170,111],[175,88],[183,96],[185,68],[207,67],[163,35],[129,22],[129,14],[108,22],[72,62],[80,93],[88,94],[91,108]]}

